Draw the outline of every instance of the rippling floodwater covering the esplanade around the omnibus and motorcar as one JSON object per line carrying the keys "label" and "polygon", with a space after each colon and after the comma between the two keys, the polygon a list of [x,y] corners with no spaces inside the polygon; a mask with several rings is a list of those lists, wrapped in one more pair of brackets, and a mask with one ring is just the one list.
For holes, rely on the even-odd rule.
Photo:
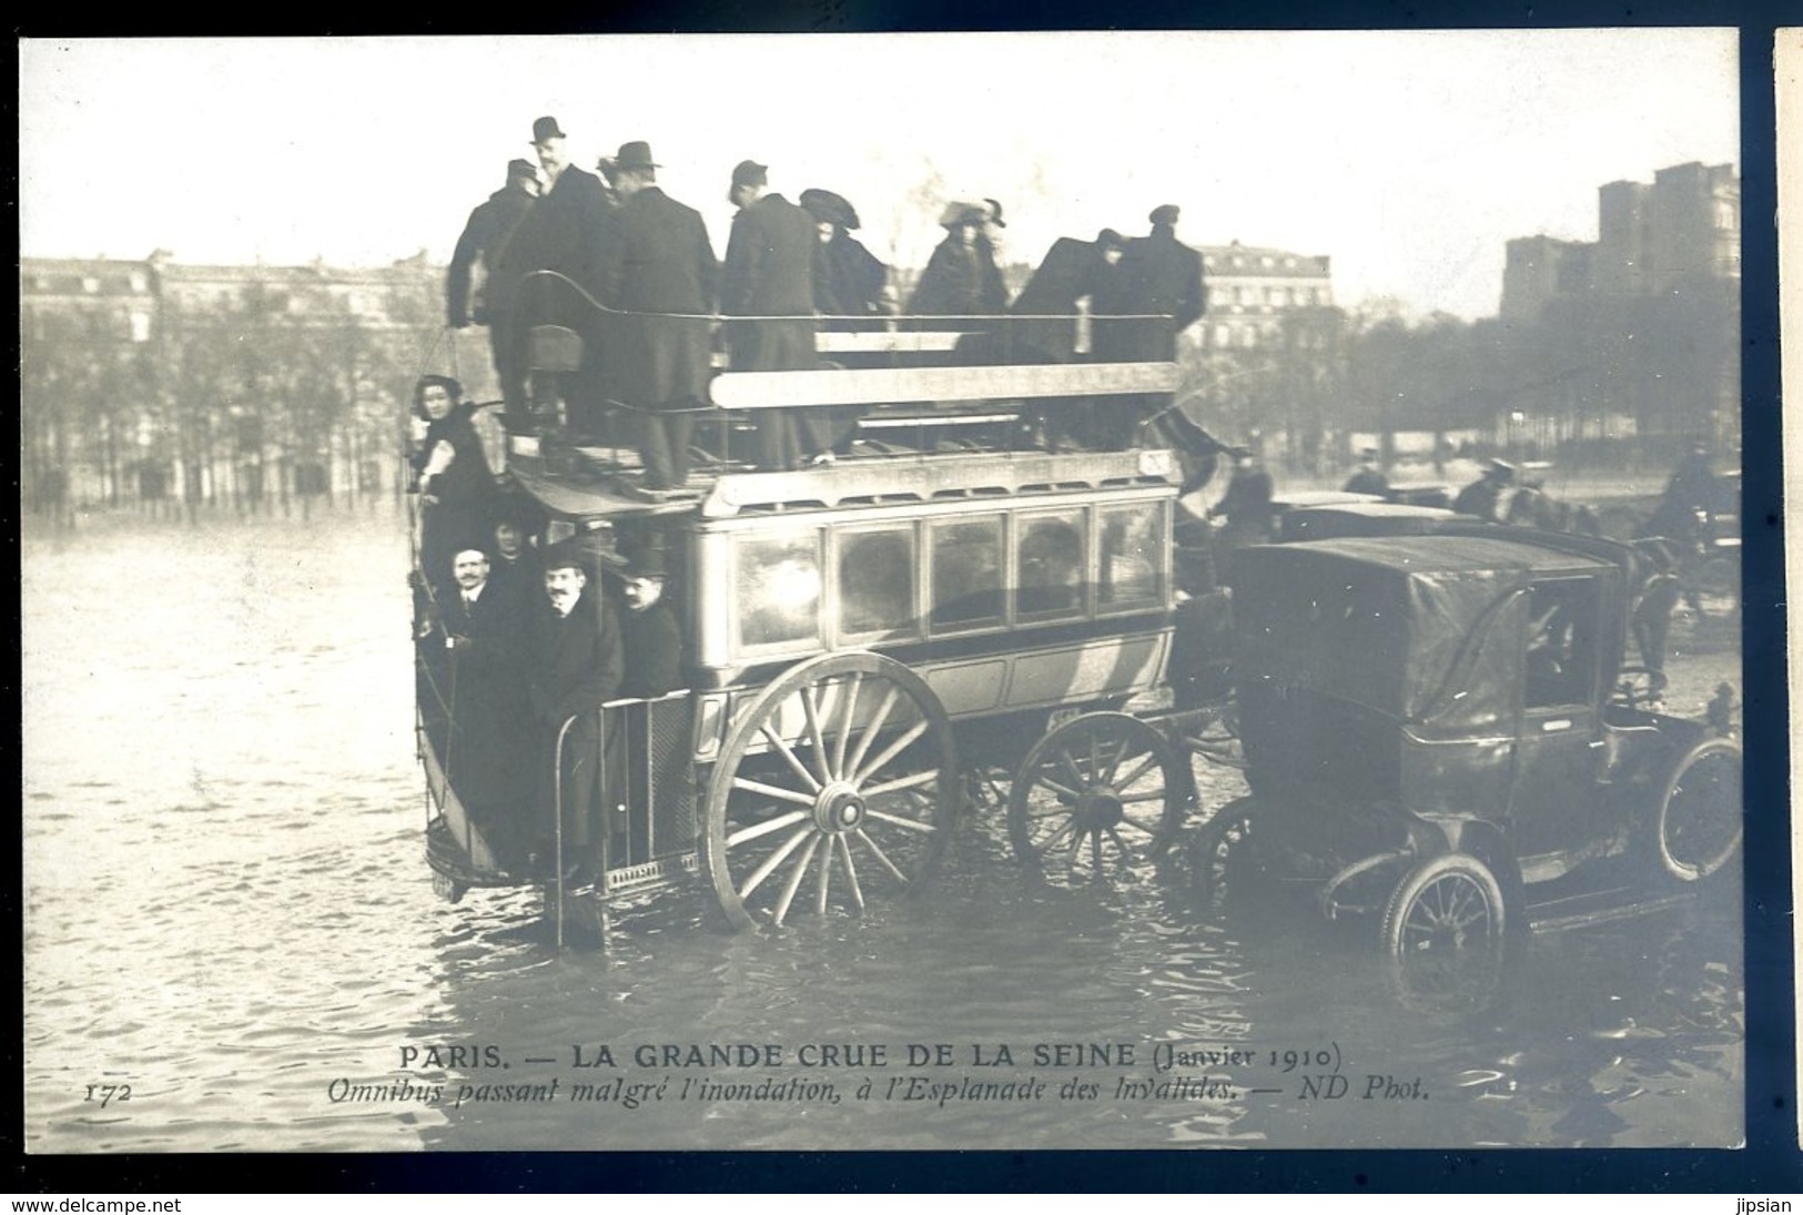
{"label": "rippling floodwater covering the esplanade around the omnibus and motorcar", "polygon": [[[698,887],[557,954],[534,892],[433,896],[402,561],[382,512],[27,543],[29,1150],[1742,1139],[1733,876],[1423,1004],[1372,925],[1048,889],[992,813],[929,900],[728,936]],[[1677,645],[1675,710],[1738,678]]]}

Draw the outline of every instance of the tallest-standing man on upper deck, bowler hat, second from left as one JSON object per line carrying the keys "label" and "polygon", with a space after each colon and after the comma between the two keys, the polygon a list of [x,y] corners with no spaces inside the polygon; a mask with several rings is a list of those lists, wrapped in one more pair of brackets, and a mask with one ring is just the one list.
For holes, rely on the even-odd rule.
{"label": "tallest-standing man on upper deck, bowler hat, second from left", "polygon": [[[572,429],[586,431],[597,424],[600,409],[602,321],[582,292],[608,303],[602,267],[611,243],[613,207],[600,178],[570,164],[557,119],[546,115],[532,124],[532,146],[545,171],[545,193],[514,234],[507,269],[516,278],[555,270],[581,288],[534,279],[521,287],[517,301],[530,321],[561,324],[582,335],[582,370],[566,377],[563,389]],[[525,368],[530,332],[525,324],[519,330],[516,341]],[[541,393],[534,404],[546,409],[552,402]]]}

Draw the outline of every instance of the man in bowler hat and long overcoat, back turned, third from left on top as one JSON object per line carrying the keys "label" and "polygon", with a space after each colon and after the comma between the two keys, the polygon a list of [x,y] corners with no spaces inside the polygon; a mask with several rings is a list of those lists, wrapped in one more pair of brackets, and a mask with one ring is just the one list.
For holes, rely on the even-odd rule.
{"label": "man in bowler hat and long overcoat, back turned, third from left on top", "polygon": [[615,189],[624,198],[602,283],[620,317],[620,397],[638,416],[644,481],[638,498],[664,499],[689,481],[692,411],[707,404],[709,317],[719,261],[694,207],[658,189],[651,144],[620,144]]}

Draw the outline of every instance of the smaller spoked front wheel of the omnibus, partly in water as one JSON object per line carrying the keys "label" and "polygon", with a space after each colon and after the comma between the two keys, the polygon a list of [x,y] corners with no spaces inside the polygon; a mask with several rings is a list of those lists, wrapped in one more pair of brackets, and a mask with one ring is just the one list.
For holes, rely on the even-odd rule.
{"label": "smaller spoked front wheel of the omnibus, partly in water", "polygon": [[1028,752],[1008,836],[1049,882],[1102,882],[1168,847],[1188,802],[1186,755],[1163,734],[1130,714],[1084,714]]}

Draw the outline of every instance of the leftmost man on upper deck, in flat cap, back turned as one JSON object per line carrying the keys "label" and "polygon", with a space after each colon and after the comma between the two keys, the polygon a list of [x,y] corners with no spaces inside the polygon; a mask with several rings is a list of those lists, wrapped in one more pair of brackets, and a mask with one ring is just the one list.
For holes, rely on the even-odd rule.
{"label": "leftmost man on upper deck, in flat cap, back turned", "polygon": [[537,198],[539,173],[532,160],[508,160],[507,184],[469,213],[445,279],[445,323],[454,330],[472,321],[489,326],[494,375],[510,415],[523,411],[526,402],[523,348],[512,324],[519,296],[514,234]]}

